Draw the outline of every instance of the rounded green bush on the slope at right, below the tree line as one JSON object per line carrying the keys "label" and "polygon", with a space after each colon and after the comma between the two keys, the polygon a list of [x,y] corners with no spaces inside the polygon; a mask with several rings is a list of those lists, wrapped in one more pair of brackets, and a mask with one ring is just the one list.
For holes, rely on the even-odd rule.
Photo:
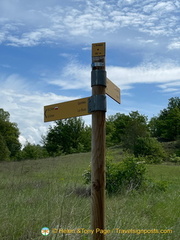
{"label": "rounded green bush on the slope at right, below the tree line", "polygon": [[148,163],[160,163],[165,158],[165,152],[162,145],[150,137],[139,137],[134,146],[134,155],[136,157],[145,157]]}

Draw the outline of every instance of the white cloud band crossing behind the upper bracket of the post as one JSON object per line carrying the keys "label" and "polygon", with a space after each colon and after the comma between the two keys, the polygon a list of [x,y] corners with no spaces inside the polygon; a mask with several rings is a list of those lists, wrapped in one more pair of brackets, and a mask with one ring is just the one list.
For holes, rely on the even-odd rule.
{"label": "white cloud band crossing behind the upper bracket of the post", "polygon": [[[130,89],[136,83],[179,84],[180,67],[173,63],[147,63],[140,66],[125,68],[120,66],[107,66],[108,78],[116,83],[122,90]],[[58,72],[57,79],[48,79],[62,89],[90,89],[90,68],[78,62],[71,62]],[[161,86],[162,86],[161,85]]]}

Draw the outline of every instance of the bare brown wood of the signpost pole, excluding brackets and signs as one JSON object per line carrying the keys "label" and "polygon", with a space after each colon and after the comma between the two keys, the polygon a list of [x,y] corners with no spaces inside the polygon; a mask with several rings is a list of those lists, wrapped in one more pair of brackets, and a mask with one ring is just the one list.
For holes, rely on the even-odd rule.
{"label": "bare brown wood of the signpost pole, excluding brackets and signs", "polygon": [[[99,67],[94,69],[98,71]],[[105,65],[100,69],[105,70]],[[106,86],[98,84],[92,86],[92,96],[105,94],[105,88]],[[105,239],[102,233],[105,229],[105,115],[105,111],[92,112],[91,227],[94,230],[93,240]]]}

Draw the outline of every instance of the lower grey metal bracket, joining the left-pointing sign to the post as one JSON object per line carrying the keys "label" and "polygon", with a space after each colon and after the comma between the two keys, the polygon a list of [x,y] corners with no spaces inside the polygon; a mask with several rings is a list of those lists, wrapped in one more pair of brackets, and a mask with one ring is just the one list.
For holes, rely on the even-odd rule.
{"label": "lower grey metal bracket, joining the left-pointing sign to the post", "polygon": [[106,112],[106,95],[93,95],[88,100],[88,112],[92,113],[95,111]]}

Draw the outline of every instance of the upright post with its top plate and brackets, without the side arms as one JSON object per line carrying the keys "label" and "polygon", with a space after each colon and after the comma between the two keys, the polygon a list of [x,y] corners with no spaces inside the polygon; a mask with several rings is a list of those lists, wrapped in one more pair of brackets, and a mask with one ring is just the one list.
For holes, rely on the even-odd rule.
{"label": "upright post with its top plate and brackets, without the side arms", "polygon": [[105,43],[92,45],[92,156],[91,156],[91,227],[93,239],[105,239],[98,229],[105,229],[105,124],[106,71]]}

